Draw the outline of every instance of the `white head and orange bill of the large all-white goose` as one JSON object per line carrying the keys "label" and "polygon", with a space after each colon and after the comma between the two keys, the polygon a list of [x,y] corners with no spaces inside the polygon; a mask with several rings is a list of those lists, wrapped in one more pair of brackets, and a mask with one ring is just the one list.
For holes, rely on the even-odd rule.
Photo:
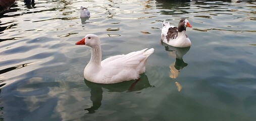
{"label": "white head and orange bill of the large all-white goose", "polygon": [[90,47],[100,45],[99,37],[95,34],[87,34],[83,39],[76,42],[76,45],[87,45]]}

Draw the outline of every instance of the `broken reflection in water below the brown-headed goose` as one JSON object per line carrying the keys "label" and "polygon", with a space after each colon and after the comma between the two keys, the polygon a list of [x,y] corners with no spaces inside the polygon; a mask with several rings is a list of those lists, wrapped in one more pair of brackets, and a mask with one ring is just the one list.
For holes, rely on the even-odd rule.
{"label": "broken reflection in water below the brown-headed goose", "polygon": [[[180,70],[186,67],[188,64],[183,61],[183,55],[185,55],[190,47],[174,47],[170,46],[166,43],[161,43],[163,46],[165,46],[166,51],[170,51],[169,55],[175,57],[175,62],[173,62],[169,68],[170,68],[170,78],[176,79],[179,76]],[[179,82],[175,82],[175,85],[177,86],[178,91],[181,91],[182,87]]]}

